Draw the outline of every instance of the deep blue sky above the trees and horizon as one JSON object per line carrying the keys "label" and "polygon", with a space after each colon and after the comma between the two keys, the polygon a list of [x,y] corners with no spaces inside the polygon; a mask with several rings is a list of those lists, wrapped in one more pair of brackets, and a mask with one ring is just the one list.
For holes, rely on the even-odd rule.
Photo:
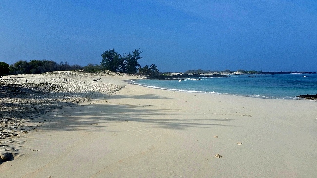
{"label": "deep blue sky above the trees and horizon", "polygon": [[0,0],[0,61],[100,64],[143,51],[161,72],[317,71],[316,0]]}

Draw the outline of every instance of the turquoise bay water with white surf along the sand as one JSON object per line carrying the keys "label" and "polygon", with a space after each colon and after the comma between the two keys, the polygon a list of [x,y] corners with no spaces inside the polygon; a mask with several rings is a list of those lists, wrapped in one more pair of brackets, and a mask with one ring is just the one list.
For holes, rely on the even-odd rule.
{"label": "turquoise bay water with white surf along the sand", "polygon": [[230,75],[186,80],[133,80],[134,84],[185,92],[232,94],[268,99],[297,99],[317,94],[317,74]]}

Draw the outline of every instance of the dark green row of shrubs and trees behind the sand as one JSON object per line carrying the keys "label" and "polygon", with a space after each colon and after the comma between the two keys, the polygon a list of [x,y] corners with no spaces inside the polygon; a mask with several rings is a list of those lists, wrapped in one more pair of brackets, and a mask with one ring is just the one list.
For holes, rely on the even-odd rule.
{"label": "dark green row of shrubs and trees behind the sand", "polygon": [[88,64],[84,67],[80,65],[69,65],[67,62],[56,63],[51,60],[31,60],[29,62],[19,60],[12,65],[0,62],[0,78],[6,74],[42,74],[45,72],[72,70],[82,70],[84,72],[110,70],[128,74],[158,75],[159,71],[155,64],[141,67],[139,64],[139,59],[143,58],[140,56],[141,53],[140,48],[131,53],[123,53],[123,55],[120,55],[114,49],[109,49],[101,54],[102,61],[100,65]]}

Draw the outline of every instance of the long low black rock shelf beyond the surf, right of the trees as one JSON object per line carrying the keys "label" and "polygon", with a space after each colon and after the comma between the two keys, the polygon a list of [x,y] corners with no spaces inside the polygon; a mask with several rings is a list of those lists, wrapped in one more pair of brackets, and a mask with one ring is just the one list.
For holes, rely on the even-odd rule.
{"label": "long low black rock shelf beyond the surf, right of the trees", "polygon": [[198,77],[228,77],[222,74],[212,74],[212,75],[201,75],[201,74],[177,74],[171,76],[165,75],[151,75],[147,76],[146,79],[158,79],[158,80],[183,80],[188,78],[198,78]]}

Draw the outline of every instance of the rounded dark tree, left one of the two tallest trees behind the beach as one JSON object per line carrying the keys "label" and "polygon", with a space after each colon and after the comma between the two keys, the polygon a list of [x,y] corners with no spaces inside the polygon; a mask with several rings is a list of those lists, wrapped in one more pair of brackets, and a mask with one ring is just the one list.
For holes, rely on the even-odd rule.
{"label": "rounded dark tree, left one of the two tallest trees behind the beach", "polygon": [[119,72],[120,66],[122,66],[122,57],[114,49],[104,51],[101,55],[102,61],[100,66],[102,69]]}

